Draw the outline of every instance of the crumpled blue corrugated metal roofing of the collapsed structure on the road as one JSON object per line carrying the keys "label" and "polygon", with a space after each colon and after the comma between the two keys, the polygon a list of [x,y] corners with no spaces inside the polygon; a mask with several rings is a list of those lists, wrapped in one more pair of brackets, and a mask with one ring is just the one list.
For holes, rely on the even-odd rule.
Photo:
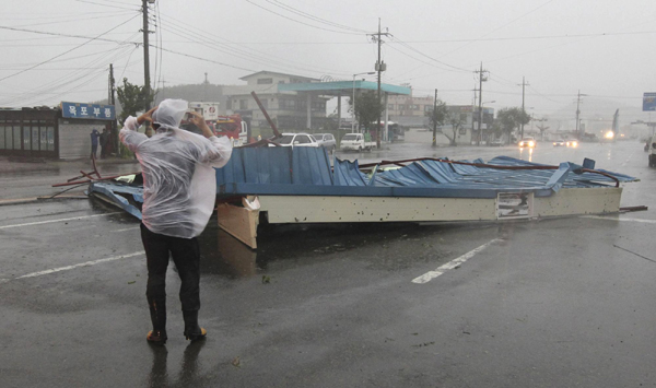
{"label": "crumpled blue corrugated metal roofing of the collapsed structure on the road", "polygon": [[[482,160],[472,164],[484,164]],[[489,165],[537,167],[508,156],[497,156]],[[594,168],[594,161],[585,167]],[[561,163],[557,169],[495,169],[421,160],[397,169],[365,174],[358,161],[335,158],[330,166],[323,148],[234,149],[230,162],[216,169],[216,195],[364,196],[495,198],[497,192],[535,192],[549,197],[560,188],[614,186],[616,180],[582,172],[584,166]],[[601,171],[618,181],[636,180],[628,175]]]}

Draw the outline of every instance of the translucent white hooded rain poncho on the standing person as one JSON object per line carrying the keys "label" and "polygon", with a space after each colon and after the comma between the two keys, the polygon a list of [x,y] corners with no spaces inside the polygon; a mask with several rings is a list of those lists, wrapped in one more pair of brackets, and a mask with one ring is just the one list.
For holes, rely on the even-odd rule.
{"label": "translucent white hooded rain poncho on the standing person", "polygon": [[128,117],[120,141],[134,152],[143,173],[142,222],[154,233],[191,238],[206,227],[216,198],[216,175],[232,154],[230,139],[204,138],[179,128],[188,104],[165,99],[153,114],[152,138]]}

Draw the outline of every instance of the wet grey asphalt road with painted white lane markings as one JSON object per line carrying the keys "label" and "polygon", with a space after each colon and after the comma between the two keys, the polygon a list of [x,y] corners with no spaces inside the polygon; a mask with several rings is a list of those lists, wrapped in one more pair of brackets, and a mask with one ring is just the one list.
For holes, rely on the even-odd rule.
{"label": "wet grey asphalt road with painted white lane markings", "polygon": [[[213,219],[200,237],[209,338],[186,343],[169,270],[169,340],[152,348],[136,220],[89,199],[0,205],[0,386],[656,386],[656,169],[642,144],[540,143],[529,153],[406,143],[345,156],[499,154],[595,158],[641,178],[622,205],[649,210],[503,225],[280,226],[260,231],[257,251]],[[2,199],[55,193],[49,184],[80,168],[4,172]]]}

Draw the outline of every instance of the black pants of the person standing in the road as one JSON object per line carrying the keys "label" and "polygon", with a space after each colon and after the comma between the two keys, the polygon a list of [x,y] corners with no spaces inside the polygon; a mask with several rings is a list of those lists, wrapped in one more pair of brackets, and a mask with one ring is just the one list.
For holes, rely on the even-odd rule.
{"label": "black pants of the person standing in the road", "polygon": [[[148,262],[145,297],[153,330],[166,329],[166,268],[169,252],[180,277],[183,313],[197,317],[200,309],[200,248],[198,239],[171,237],[153,233],[141,224],[141,240]],[[196,313],[196,314],[194,314]],[[186,322],[188,324],[188,322]]]}

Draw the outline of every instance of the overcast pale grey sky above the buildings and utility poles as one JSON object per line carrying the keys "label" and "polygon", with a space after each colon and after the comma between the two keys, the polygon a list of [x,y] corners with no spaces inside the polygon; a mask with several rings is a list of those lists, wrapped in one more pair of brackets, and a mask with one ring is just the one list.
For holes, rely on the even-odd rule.
{"label": "overcast pale grey sky above the buildings and utility poles", "polygon": [[[0,106],[105,98],[110,62],[117,80],[143,84],[140,4],[4,0]],[[448,104],[471,104],[481,62],[483,101],[496,109],[522,105],[523,77],[536,116],[575,105],[578,90],[589,106],[636,109],[656,92],[656,2],[647,0],[157,0],[151,11],[151,44],[163,48],[151,47],[153,86],[200,83],[206,72],[239,84],[259,70],[352,80],[374,70],[366,33],[380,17],[391,34],[383,81],[410,83],[415,95],[438,89]]]}

